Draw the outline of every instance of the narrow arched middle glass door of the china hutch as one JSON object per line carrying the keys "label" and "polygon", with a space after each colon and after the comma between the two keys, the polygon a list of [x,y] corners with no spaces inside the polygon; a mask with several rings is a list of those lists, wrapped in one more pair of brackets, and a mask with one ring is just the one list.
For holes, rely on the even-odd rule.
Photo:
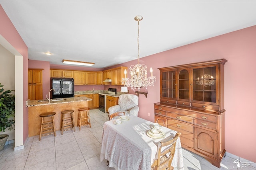
{"label": "narrow arched middle glass door of the china hutch", "polygon": [[189,101],[189,77],[190,72],[187,69],[179,70],[179,99]]}

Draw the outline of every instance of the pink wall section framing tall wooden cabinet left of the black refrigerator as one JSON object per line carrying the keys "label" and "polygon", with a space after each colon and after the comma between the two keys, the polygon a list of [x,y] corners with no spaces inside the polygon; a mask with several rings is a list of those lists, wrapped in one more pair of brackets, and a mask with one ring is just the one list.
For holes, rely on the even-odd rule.
{"label": "pink wall section framing tall wooden cabinet left of the black refrigerator", "polygon": [[43,99],[46,98],[46,94],[49,95],[50,90],[50,62],[49,61],[37,61],[28,60],[28,68],[30,69],[43,69]]}

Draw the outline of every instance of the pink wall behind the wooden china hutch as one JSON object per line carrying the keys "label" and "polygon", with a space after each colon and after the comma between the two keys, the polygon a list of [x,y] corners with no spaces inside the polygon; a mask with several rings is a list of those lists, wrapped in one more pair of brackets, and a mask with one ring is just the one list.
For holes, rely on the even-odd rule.
{"label": "pink wall behind the wooden china hutch", "polygon": [[[228,60],[224,66],[225,149],[256,162],[256,26],[141,58],[140,63],[152,67],[157,77],[156,84],[148,87],[148,98],[144,95],[139,97],[139,117],[154,121],[153,103],[160,101],[160,71],[157,68],[222,58]],[[122,66],[131,64],[136,64],[136,60],[123,63]]]}

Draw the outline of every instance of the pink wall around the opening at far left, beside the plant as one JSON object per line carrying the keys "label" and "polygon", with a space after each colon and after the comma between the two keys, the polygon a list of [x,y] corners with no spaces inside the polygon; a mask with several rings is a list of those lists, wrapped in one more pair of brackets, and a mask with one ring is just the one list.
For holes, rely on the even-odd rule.
{"label": "pink wall around the opening at far left, beside the plant", "polygon": [[[23,56],[23,141],[28,137],[28,47],[0,5],[0,34]],[[17,120],[16,120],[17,121]]]}

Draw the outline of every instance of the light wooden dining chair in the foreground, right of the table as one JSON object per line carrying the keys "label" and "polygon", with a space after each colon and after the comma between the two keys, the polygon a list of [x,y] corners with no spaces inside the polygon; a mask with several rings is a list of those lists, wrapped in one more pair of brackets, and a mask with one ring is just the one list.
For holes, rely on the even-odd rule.
{"label": "light wooden dining chair in the foreground, right of the table", "polygon": [[[175,153],[176,141],[180,135],[181,133],[178,132],[176,133],[174,138],[170,136],[158,143],[156,157],[151,165],[151,170],[173,169],[173,167],[171,166],[172,159]],[[162,150],[162,147],[166,147],[166,149]]]}

